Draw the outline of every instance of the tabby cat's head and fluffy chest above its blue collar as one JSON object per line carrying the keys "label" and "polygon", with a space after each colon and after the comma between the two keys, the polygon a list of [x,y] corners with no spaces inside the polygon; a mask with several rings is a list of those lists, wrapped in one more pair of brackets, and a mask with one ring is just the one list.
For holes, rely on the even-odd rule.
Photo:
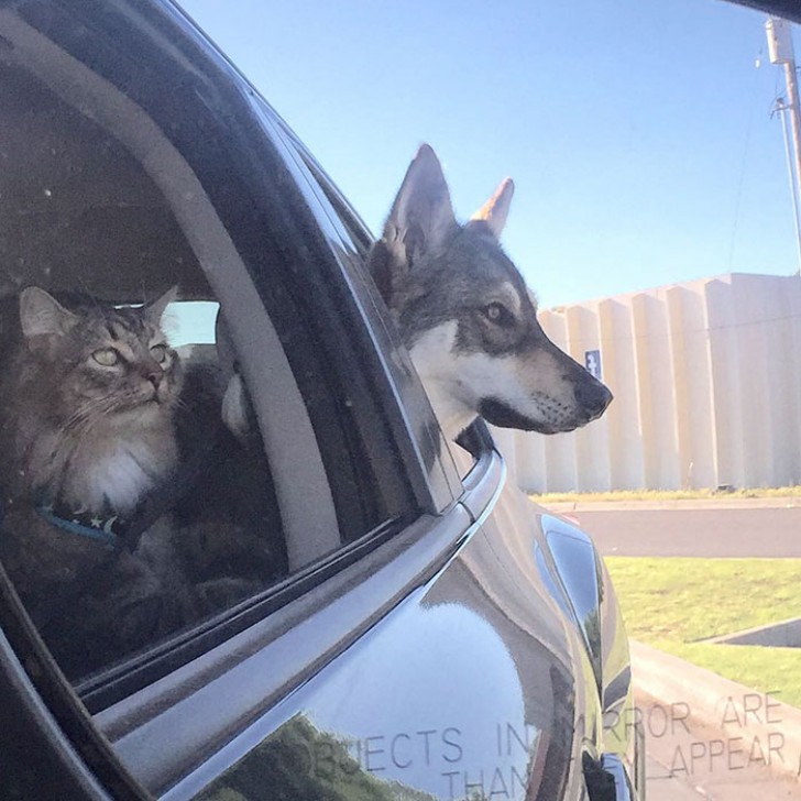
{"label": "tabby cat's head and fluffy chest above its blue collar", "polygon": [[43,289],[20,296],[22,341],[0,378],[0,472],[18,496],[129,515],[174,469],[182,365],[161,329],[171,289],[141,308]]}

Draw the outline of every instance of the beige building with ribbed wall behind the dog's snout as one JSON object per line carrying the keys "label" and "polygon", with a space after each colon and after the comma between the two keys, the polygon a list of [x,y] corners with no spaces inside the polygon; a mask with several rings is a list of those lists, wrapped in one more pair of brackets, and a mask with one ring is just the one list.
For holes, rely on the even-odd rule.
{"label": "beige building with ribbed wall behind the dog's snout", "polygon": [[615,395],[601,420],[498,431],[530,492],[801,484],[801,278],[720,275],[540,311]]}

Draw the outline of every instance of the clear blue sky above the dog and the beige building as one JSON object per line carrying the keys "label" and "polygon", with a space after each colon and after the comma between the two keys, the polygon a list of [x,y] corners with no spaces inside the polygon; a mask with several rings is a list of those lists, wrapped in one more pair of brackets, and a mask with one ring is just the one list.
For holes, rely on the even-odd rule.
{"label": "clear blue sky above the dog and the beige building", "polygon": [[512,176],[503,243],[542,307],[798,270],[771,119],[783,77],[759,12],[723,0],[182,4],[374,233],[421,142],[460,219]]}

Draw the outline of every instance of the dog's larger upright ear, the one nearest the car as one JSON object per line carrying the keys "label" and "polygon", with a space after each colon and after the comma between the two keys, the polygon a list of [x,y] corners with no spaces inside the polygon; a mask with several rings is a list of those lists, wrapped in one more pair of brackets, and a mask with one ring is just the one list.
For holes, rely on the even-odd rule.
{"label": "dog's larger upright ear, the one nearest the car", "polygon": [[436,153],[424,144],[406,171],[401,189],[371,253],[370,268],[384,300],[420,259],[440,249],[457,220]]}

